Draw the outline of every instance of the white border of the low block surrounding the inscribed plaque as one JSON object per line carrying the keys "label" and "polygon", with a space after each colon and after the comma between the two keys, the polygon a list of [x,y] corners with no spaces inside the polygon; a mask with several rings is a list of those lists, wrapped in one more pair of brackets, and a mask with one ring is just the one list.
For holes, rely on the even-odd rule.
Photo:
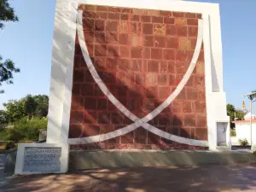
{"label": "white border of the low block surrounding the inscribed plaque", "polygon": [[[61,171],[60,172],[23,172],[25,150],[26,148],[61,148]],[[44,174],[44,173],[66,173],[68,170],[69,159],[69,145],[67,143],[19,143],[16,163],[15,174],[31,175],[31,174]]]}

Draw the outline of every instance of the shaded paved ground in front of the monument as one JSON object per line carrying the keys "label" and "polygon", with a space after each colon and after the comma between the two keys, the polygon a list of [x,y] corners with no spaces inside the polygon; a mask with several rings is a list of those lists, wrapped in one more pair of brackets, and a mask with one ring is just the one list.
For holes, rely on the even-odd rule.
{"label": "shaded paved ground in front of the monument", "polygon": [[19,176],[0,191],[256,191],[255,166],[143,167]]}

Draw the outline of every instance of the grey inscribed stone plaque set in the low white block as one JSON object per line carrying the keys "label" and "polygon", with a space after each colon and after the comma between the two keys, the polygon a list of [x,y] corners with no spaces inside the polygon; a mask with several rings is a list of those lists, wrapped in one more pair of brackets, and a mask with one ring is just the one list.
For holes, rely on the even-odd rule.
{"label": "grey inscribed stone plaque set in the low white block", "polygon": [[61,148],[26,147],[23,172],[61,172]]}

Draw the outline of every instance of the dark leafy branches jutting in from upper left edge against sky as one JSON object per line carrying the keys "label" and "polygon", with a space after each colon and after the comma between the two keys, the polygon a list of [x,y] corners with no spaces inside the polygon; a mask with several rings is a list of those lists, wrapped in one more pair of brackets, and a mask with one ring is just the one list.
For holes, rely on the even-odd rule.
{"label": "dark leafy branches jutting in from upper left edge against sky", "polygon": [[[3,29],[4,22],[18,21],[18,17],[15,15],[15,10],[10,7],[8,0],[0,0],[0,29]],[[0,55],[0,86],[4,82],[7,84],[13,84],[13,73],[20,73],[20,69],[15,67],[15,63],[9,59],[3,61],[3,57]],[[3,93],[4,90],[0,90]]]}

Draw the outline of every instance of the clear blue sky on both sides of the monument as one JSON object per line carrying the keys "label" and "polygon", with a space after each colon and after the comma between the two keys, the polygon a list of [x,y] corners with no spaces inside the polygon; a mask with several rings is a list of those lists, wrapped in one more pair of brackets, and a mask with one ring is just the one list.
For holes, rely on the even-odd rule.
{"label": "clear blue sky on both sides of the monument", "polygon": [[[256,1],[197,0],[219,3],[224,91],[227,102],[241,108],[242,95],[256,90]],[[3,102],[27,94],[49,95],[50,61],[53,38],[54,0],[11,0],[20,22],[9,23],[0,31],[0,54],[15,61],[21,72],[15,84],[3,85]],[[2,87],[1,87],[2,89]],[[245,101],[249,108],[247,100]],[[254,113],[256,104],[254,104]]]}

